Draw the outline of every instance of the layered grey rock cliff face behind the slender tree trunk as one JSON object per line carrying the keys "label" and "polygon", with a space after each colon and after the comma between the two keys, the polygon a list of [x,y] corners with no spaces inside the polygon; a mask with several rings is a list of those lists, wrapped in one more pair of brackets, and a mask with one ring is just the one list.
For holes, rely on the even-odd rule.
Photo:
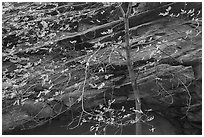
{"label": "layered grey rock cliff face behind the slender tree trunk", "polygon": [[[100,7],[100,4],[95,6]],[[182,4],[170,6],[177,13]],[[199,11],[200,6],[189,3],[188,8]],[[154,133],[143,132],[144,134],[200,134],[202,26],[195,24],[189,18],[161,17],[156,14],[163,9],[165,11],[168,7],[169,5],[161,6],[154,12],[141,11],[139,15],[130,18],[131,59],[134,62],[142,109],[153,111],[151,112],[155,114],[153,125],[158,126],[159,129]],[[80,6],[78,8],[80,9]],[[100,10],[104,9],[115,12],[114,6]],[[25,119],[32,121],[31,119],[34,118],[42,120],[43,123],[44,119],[57,117],[67,110],[78,111],[81,105],[84,105],[85,109],[93,109],[108,100],[115,100],[114,104],[134,100],[125,51],[122,48],[124,46],[124,41],[121,39],[124,35],[123,23],[119,18],[113,18],[106,12],[105,14],[109,17],[107,20],[100,20],[100,16],[95,15],[82,18],[76,32],[57,34],[53,53],[48,54],[43,51],[46,52],[46,56],[43,55],[45,58],[42,58],[43,63],[28,70],[33,75],[29,77],[30,81],[28,80],[27,85],[19,88],[19,90],[26,90],[25,94],[28,94],[19,106],[21,113],[17,114],[14,111],[14,114],[24,117],[19,118],[20,121]],[[97,19],[100,20],[98,24],[90,23]],[[111,28],[114,34],[109,34],[108,31]],[[39,50],[42,51],[42,49]],[[23,51],[19,50],[17,55],[22,56],[21,52]],[[33,55],[29,57],[32,59]],[[16,64],[3,62],[5,69],[14,69],[14,67],[9,68],[12,65]],[[40,79],[42,68],[45,70],[44,73],[48,74],[51,83],[45,82],[43,86],[39,86],[34,80]],[[11,83],[5,83],[3,87],[5,89],[12,87],[8,85]],[[41,97],[43,100],[40,102],[34,101]],[[9,101],[6,100],[6,103]],[[3,113],[3,119],[14,116],[8,111]],[[8,121],[10,120],[3,121],[5,131],[18,126]],[[158,123],[158,121],[161,122]],[[35,122],[31,124],[27,122],[28,127],[38,125],[39,121]],[[22,124],[22,122],[19,123]],[[23,123],[26,122],[23,121]],[[163,128],[165,125],[169,128],[168,132]],[[178,130],[180,130],[179,133]]]}

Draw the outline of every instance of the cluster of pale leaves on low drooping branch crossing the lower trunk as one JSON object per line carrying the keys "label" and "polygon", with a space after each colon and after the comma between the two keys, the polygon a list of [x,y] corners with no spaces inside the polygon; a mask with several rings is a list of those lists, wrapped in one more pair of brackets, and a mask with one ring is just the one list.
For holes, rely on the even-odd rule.
{"label": "cluster of pale leaves on low drooping branch crossing the lower trunk", "polygon": [[[144,124],[147,124],[150,127],[149,130],[151,132],[154,132],[154,126],[147,123],[154,120],[153,115],[147,115],[148,112],[152,111],[151,109],[145,110],[147,114],[143,113],[142,111],[139,112],[138,110],[135,110],[134,107],[126,108],[122,106],[120,109],[116,109],[112,106],[114,102],[115,99],[108,100],[107,105],[100,104],[97,108],[92,110],[91,115],[84,116],[82,118],[80,125],[92,123],[93,126],[90,127],[90,132],[94,132],[94,134],[99,135],[106,134],[107,127],[117,128],[119,131],[122,129],[122,127],[135,124],[141,120],[144,122]],[[141,113],[142,117],[135,117],[136,113]]]}

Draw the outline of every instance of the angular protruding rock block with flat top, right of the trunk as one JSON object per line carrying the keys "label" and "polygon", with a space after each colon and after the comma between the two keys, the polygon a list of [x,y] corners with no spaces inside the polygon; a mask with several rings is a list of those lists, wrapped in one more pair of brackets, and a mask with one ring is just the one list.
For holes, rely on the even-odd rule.
{"label": "angular protruding rock block with flat top, right of the trunk", "polygon": [[162,64],[157,66],[156,69],[152,69],[154,72],[152,75],[148,76],[149,70],[147,70],[147,73],[143,73],[138,78],[141,96],[144,96],[144,94],[149,96],[168,94],[168,90],[174,89],[179,85],[185,85],[194,79],[191,67]]}

